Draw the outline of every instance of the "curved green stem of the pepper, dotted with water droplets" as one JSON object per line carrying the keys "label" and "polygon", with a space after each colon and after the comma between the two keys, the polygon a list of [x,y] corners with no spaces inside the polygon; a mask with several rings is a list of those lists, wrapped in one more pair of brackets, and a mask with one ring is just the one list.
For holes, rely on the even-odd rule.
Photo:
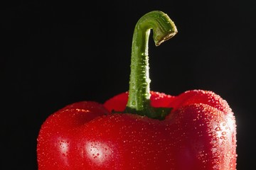
{"label": "curved green stem of the pepper, dotted with water droplets", "polygon": [[156,46],[177,33],[174,22],[161,11],[146,13],[137,22],[132,40],[132,63],[126,111],[146,115],[149,118],[158,118],[158,113],[150,105],[148,43],[151,29],[153,29]]}

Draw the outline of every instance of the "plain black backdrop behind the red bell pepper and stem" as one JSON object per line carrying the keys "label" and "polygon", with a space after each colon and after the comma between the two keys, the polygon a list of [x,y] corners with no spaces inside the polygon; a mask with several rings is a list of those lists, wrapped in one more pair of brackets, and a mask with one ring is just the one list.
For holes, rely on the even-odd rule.
{"label": "plain black backdrop behind the red bell pepper and stem", "polygon": [[238,124],[238,170],[255,169],[256,1],[18,1],[1,5],[0,169],[37,169],[44,120],[75,101],[128,90],[132,34],[161,10],[178,34],[149,41],[151,90],[222,96]]}

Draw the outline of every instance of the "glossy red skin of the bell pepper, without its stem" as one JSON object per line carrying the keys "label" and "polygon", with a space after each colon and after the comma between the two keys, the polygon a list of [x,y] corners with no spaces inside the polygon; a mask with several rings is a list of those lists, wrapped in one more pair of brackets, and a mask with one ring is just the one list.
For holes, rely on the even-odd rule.
{"label": "glossy red skin of the bell pepper, without its stem", "polygon": [[174,108],[165,120],[112,114],[127,98],[78,102],[50,115],[38,135],[38,169],[236,169],[235,117],[220,96],[151,91],[152,106]]}

